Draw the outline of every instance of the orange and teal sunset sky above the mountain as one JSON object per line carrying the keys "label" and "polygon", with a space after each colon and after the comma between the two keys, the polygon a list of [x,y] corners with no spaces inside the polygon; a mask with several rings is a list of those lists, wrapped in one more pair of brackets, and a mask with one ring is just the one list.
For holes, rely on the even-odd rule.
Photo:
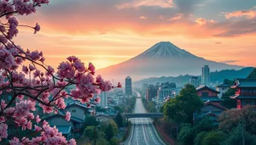
{"label": "orange and teal sunset sky above the mountain", "polygon": [[101,69],[172,42],[199,57],[256,66],[255,0],[50,0],[18,17],[15,42],[57,66],[70,55]]}

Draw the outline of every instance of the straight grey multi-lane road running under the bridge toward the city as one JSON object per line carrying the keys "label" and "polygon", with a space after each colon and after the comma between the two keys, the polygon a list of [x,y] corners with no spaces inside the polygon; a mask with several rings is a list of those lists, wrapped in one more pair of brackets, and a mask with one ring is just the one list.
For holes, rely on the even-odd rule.
{"label": "straight grey multi-lane road running under the bridge toward the city", "polygon": [[[146,113],[143,106],[141,95],[137,92],[137,100],[135,104],[134,113]],[[157,132],[154,129],[153,120],[150,118],[135,118],[130,119],[131,134],[125,142],[125,145],[165,145],[161,141]]]}

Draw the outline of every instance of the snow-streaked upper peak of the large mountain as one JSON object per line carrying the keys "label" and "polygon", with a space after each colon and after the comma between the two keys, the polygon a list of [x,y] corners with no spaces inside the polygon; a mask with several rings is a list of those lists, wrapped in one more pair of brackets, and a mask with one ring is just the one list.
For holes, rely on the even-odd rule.
{"label": "snow-streaked upper peak of the large mountain", "polygon": [[141,53],[137,58],[195,58],[196,56],[180,49],[172,44],[172,42],[159,42],[153,47],[150,47],[144,53]]}

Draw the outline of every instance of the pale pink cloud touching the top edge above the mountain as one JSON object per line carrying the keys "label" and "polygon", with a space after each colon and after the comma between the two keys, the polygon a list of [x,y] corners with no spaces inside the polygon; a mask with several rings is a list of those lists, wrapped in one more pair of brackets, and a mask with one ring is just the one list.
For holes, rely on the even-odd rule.
{"label": "pale pink cloud touching the top edge above the mountain", "polygon": [[174,4],[172,0],[132,0],[131,3],[121,3],[116,7],[123,8],[139,8],[139,7],[160,7],[160,8],[172,8]]}

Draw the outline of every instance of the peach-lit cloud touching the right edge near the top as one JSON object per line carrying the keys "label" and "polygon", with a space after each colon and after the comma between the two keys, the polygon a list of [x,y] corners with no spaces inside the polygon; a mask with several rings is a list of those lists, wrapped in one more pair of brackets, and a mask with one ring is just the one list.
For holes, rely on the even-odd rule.
{"label": "peach-lit cloud touching the right edge near the top", "polygon": [[222,13],[225,14],[226,19],[230,18],[238,18],[238,17],[247,17],[248,19],[253,19],[256,17],[256,10],[241,10],[241,11],[234,11],[231,13]]}

